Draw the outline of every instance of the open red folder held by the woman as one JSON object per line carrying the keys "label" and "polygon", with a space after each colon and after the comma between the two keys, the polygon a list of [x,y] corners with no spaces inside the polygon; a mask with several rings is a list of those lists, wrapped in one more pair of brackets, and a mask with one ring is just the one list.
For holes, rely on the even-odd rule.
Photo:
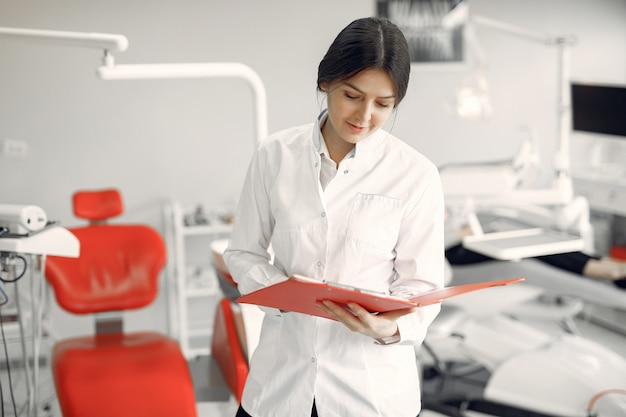
{"label": "open red folder held by the woman", "polygon": [[456,285],[423,292],[411,298],[400,298],[334,282],[292,275],[286,281],[253,291],[235,301],[332,319],[315,306],[317,301],[330,300],[342,305],[354,302],[371,313],[383,313],[436,304],[456,295],[521,281],[524,281],[524,278]]}

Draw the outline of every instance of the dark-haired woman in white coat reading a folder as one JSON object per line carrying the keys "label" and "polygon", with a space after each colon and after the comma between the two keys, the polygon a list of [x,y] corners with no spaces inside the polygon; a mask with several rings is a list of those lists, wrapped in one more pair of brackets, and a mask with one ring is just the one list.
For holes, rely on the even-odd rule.
{"label": "dark-haired woman in white coat reading a folder", "polygon": [[[250,164],[224,253],[241,293],[291,274],[401,297],[442,287],[439,174],[381,129],[409,72],[406,40],[388,20],[339,33],[318,69],[327,110],[271,135]],[[415,346],[439,306],[348,307],[318,303],[336,321],[263,308],[237,416],[415,417]]]}

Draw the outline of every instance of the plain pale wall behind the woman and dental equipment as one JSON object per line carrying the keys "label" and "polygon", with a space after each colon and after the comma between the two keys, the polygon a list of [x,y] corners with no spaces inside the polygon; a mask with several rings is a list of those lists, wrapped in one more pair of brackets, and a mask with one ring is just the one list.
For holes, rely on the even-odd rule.
{"label": "plain pale wall behind the woman and dental equipment", "polygon": [[[148,6],[149,5],[149,6]],[[572,76],[626,81],[623,0],[471,0],[472,13],[528,29],[576,34]],[[119,64],[236,61],[264,80],[269,130],[310,122],[320,110],[317,64],[336,33],[371,15],[375,1],[0,0],[0,26],[121,33]],[[415,66],[393,132],[437,164],[500,159],[530,126],[556,146],[556,51],[478,28],[489,56],[491,120],[456,119],[446,101],[468,66]],[[251,94],[238,80],[109,81],[100,52],[0,40],[0,139],[27,142],[28,157],[0,155],[0,202],[42,206],[70,226],[71,194],[119,187],[122,220],[161,227],[161,204],[232,203],[252,153]],[[79,321],[60,312],[60,332]],[[164,329],[162,298],[141,325]],[[72,321],[74,320],[74,321]],[[80,322],[82,323],[82,322]]]}

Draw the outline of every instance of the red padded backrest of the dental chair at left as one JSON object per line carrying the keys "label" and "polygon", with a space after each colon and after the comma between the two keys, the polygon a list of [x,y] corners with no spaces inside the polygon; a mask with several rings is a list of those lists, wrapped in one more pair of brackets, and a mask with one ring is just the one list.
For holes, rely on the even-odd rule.
{"label": "red padded backrest of the dental chair at left", "polygon": [[69,229],[80,256],[49,256],[46,278],[61,307],[75,314],[137,309],[150,304],[166,261],[159,233],[143,225]]}

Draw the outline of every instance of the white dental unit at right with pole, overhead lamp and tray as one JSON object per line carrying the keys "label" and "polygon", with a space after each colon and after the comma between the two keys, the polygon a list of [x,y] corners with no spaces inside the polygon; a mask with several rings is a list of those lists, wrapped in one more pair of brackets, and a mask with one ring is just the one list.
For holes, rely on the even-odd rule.
{"label": "white dental unit at right with pole, overhead lamp and tray", "polygon": [[[484,119],[489,117],[492,111],[488,82],[484,76],[487,58],[474,32],[475,26],[485,26],[507,35],[556,47],[559,77],[556,134],[558,149],[554,156],[556,175],[550,186],[521,188],[519,185],[525,179],[520,176],[519,167],[513,166],[513,163],[508,165],[489,162],[456,164],[456,166],[451,165],[441,170],[446,204],[449,207],[456,207],[457,210],[461,207],[461,211],[465,213],[474,234],[474,236],[468,236],[463,240],[464,246],[498,259],[520,259],[547,253],[580,250],[585,246],[590,249],[593,245],[593,239],[589,222],[589,205],[584,198],[574,196],[570,176],[569,52],[570,47],[575,44],[575,38],[571,35],[547,35],[483,16],[470,16],[467,2],[461,2],[442,19],[444,27],[452,27],[458,25],[459,22],[467,22],[465,27],[467,44],[477,61],[475,71],[463,80],[462,86],[456,91],[455,110],[459,117],[466,120]],[[529,156],[537,157],[536,152],[526,153]],[[517,165],[521,166],[524,161],[517,162]],[[478,178],[483,180],[477,181]],[[446,184],[450,186],[447,187]],[[494,207],[497,209],[499,206],[515,207],[519,213],[524,215],[526,213],[520,209],[525,209],[527,213],[530,213],[533,220],[541,221],[543,223],[542,228],[533,232],[533,236],[537,232],[538,238],[535,240],[539,245],[528,244],[526,231],[514,232],[517,234],[502,238],[495,233],[483,233],[481,225],[477,221],[476,212],[478,210],[489,211],[490,208],[493,209]],[[539,215],[535,216],[537,213]],[[545,227],[557,227],[561,231],[576,230],[582,238],[564,236],[563,239],[560,237],[553,239],[553,236],[546,235],[549,231]],[[546,236],[549,239],[545,239]],[[521,238],[518,239],[521,246],[516,247],[512,251],[512,255],[503,255],[502,246],[513,245],[509,238]],[[552,245],[553,241],[555,245]],[[550,243],[552,247],[548,247],[546,243]],[[498,247],[499,245],[500,247]],[[501,256],[497,254],[501,254]]]}

